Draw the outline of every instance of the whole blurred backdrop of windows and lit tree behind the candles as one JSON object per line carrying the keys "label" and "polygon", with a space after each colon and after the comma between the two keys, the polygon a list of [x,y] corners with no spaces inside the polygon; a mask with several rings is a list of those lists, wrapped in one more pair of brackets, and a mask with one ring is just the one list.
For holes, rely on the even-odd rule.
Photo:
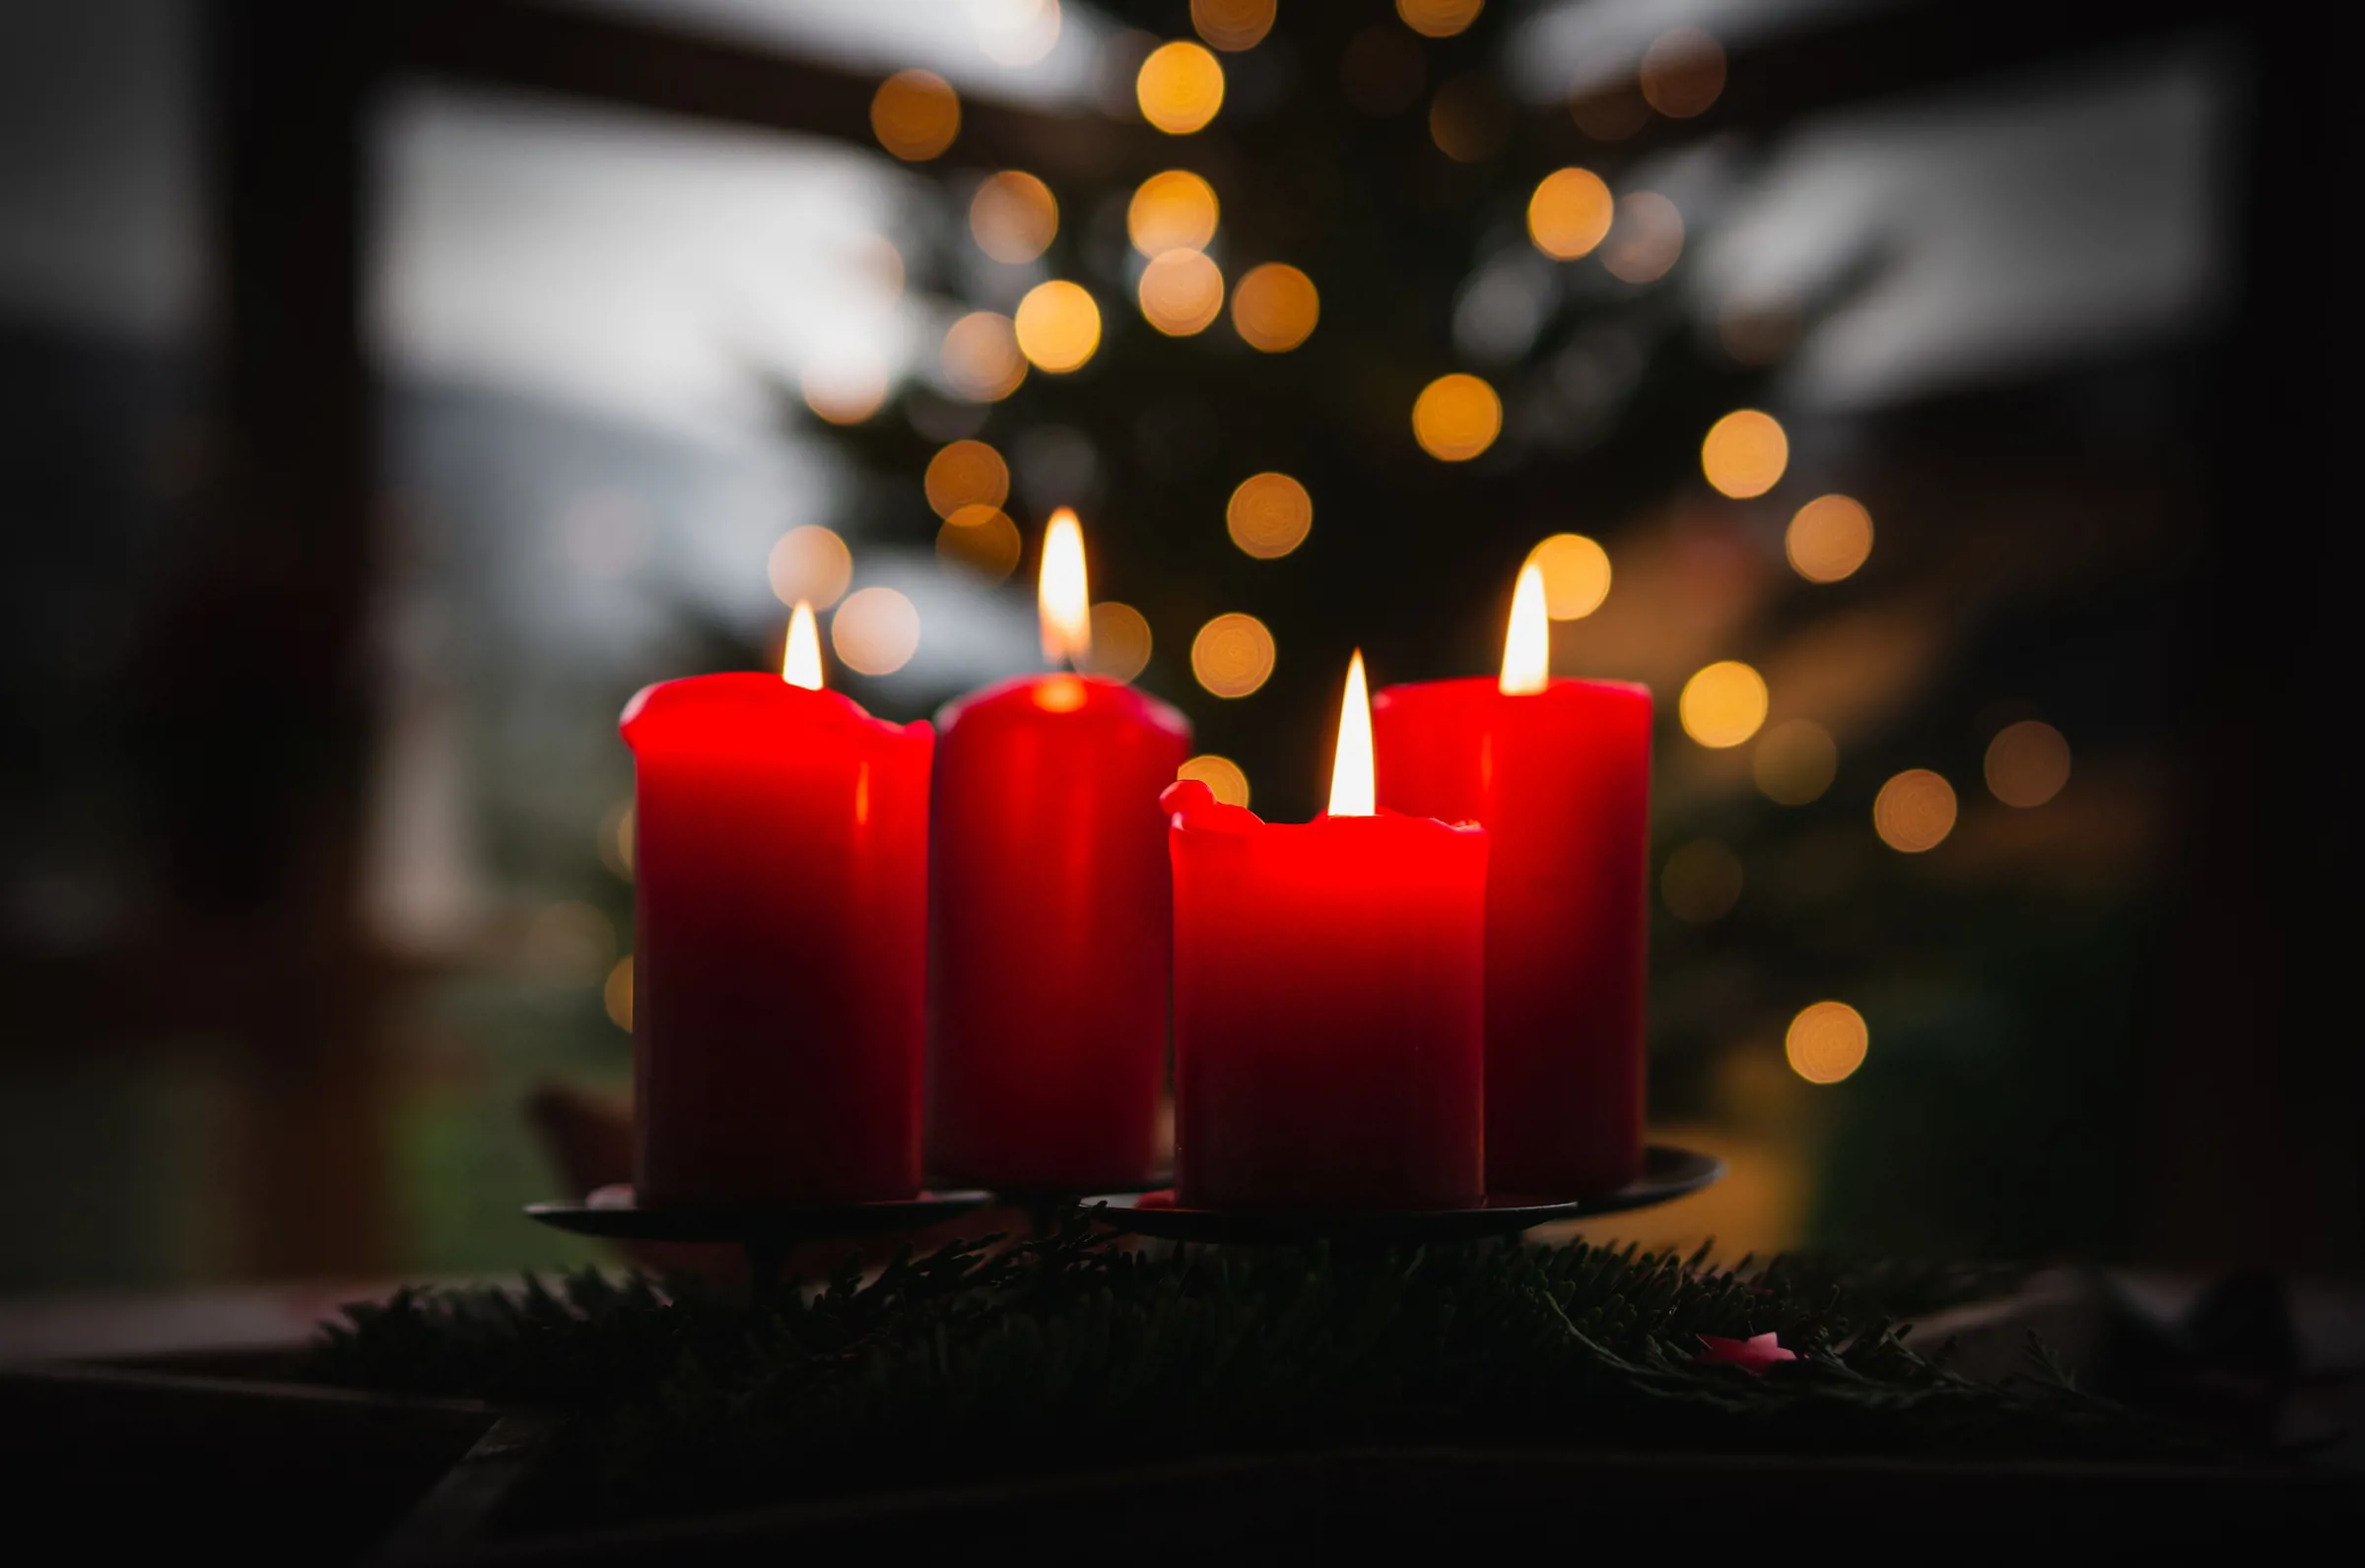
{"label": "whole blurred backdrop of windows and lit tree behind the candles", "polygon": [[1651,1237],[2356,1265],[2346,45],[9,7],[0,1289],[577,1256],[520,1104],[629,1074],[624,698],[811,596],[925,717],[1062,504],[1268,816],[1530,551],[1653,686],[1653,1121],[1736,1175]]}

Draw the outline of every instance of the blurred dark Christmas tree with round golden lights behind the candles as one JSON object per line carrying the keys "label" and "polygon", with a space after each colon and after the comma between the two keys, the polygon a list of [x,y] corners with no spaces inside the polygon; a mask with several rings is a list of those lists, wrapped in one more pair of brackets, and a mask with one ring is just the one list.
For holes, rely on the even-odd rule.
{"label": "blurred dark Christmas tree with round golden lights behind the candles", "polygon": [[[906,284],[953,324],[887,404],[806,381],[863,532],[1022,594],[1022,539],[1074,506],[1097,667],[1178,700],[1270,818],[1317,809],[1353,648],[1374,683],[1490,669],[1542,551],[1556,672],[1660,700],[1653,1116],[1835,1114],[1833,1239],[2117,1237],[2128,998],[2086,977],[2140,922],[1923,854],[1970,811],[1949,773],[2062,788],[2017,650],[2084,610],[1998,613],[1994,530],[1883,532],[1868,568],[1871,511],[1755,412],[1845,289],[1686,286],[1717,201],[1648,177],[1686,173],[1717,43],[1672,28],[1530,104],[1509,5],[1100,9],[1133,28],[1112,118],[1057,173],[981,166],[934,78],[880,88],[880,142],[939,194]],[[1760,147],[1710,154],[1729,184]],[[1859,1064],[1845,1104],[1807,1088]]]}

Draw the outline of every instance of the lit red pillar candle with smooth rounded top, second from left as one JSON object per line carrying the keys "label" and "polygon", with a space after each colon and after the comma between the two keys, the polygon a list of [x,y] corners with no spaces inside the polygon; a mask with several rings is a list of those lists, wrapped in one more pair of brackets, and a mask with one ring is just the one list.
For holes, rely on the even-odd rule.
{"label": "lit red pillar candle with smooth rounded top, second from left", "polygon": [[[1088,646],[1083,537],[1043,539],[1043,650]],[[1000,1190],[1152,1178],[1166,1086],[1166,816],[1190,752],[1164,702],[1081,674],[939,714],[929,1168]]]}

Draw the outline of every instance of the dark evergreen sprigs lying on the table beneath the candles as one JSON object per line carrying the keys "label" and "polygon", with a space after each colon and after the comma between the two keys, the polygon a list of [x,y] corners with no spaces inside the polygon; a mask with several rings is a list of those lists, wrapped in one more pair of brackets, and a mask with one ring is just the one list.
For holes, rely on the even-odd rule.
{"label": "dark evergreen sprigs lying on the table beneath the candles", "polygon": [[[577,1518],[1374,1443],[2192,1457],[2034,1339],[2006,1381],[1904,1343],[1899,1313],[2006,1282],[1582,1242],[1159,1253],[1074,1220],[757,1305],[598,1270],[404,1289],[305,1374],[556,1414],[542,1485]],[[1795,1360],[1731,1365],[1762,1334]]]}

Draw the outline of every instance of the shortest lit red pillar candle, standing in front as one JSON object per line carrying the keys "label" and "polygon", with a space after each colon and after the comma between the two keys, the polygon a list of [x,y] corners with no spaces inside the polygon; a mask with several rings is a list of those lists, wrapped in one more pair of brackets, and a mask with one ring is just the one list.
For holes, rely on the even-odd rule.
{"label": "shortest lit red pillar candle, standing in front", "polygon": [[1464,1209],[1485,1194],[1485,832],[1372,809],[1362,655],[1331,809],[1303,825],[1166,790],[1175,1197]]}

